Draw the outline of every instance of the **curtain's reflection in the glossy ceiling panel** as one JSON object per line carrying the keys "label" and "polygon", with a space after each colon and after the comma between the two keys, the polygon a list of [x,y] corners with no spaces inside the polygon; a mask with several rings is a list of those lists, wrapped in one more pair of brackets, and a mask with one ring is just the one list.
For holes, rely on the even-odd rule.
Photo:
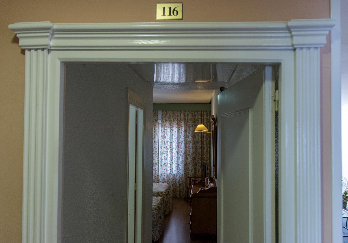
{"label": "curtain's reflection in the glossy ceiling panel", "polygon": [[195,80],[208,80],[212,79],[211,72],[212,67],[210,64],[159,63],[155,64],[154,82],[194,82]]}

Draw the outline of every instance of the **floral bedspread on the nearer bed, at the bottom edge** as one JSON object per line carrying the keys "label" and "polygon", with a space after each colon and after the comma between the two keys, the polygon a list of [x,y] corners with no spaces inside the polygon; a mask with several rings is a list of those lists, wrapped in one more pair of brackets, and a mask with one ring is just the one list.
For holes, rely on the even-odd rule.
{"label": "floral bedspread on the nearer bed, at the bottom edge", "polygon": [[157,241],[164,229],[164,209],[162,197],[152,197],[152,240]]}

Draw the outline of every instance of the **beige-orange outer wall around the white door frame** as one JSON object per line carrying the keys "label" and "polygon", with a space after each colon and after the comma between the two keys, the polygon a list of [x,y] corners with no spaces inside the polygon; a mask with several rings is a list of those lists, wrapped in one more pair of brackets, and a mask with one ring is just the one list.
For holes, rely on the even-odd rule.
{"label": "beige-orange outer wall around the white door frame", "polygon": [[[160,1],[164,2],[164,1]],[[329,18],[330,1],[180,1],[178,22],[288,21]],[[156,1],[6,1],[0,0],[0,242],[21,242],[24,117],[24,52],[8,29],[15,22],[156,22]],[[330,46],[322,52],[330,73]],[[330,104],[330,75],[323,76],[323,99]],[[322,108],[323,132],[330,133],[330,106]],[[330,164],[330,139],[323,154]],[[330,168],[329,168],[330,169]],[[324,171],[330,175],[331,171]],[[325,176],[324,175],[324,176]],[[330,183],[330,181],[329,181]]]}

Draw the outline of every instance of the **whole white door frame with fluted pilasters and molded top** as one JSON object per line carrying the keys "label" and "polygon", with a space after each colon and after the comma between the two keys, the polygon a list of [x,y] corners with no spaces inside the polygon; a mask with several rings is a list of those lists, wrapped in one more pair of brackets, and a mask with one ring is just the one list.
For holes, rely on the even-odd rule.
{"label": "whole white door frame with fluted pilasters and molded top", "polygon": [[63,63],[169,61],[281,64],[280,242],[321,242],[319,48],[334,24],[304,19],[9,25],[26,49],[22,241],[60,242]]}

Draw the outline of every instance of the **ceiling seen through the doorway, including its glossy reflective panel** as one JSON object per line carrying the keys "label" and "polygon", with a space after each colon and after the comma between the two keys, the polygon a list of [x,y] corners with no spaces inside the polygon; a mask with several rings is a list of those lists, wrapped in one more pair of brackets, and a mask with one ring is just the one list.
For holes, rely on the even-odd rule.
{"label": "ceiling seen through the doorway, including its glossy reflective panel", "polygon": [[[129,66],[139,74],[144,80],[153,83],[153,103],[155,104],[209,104],[214,89],[220,89],[221,86],[231,78],[236,64],[234,63],[189,63],[183,64],[186,71],[184,80],[180,82],[156,81],[155,65],[177,65],[178,63],[130,63]],[[179,64],[180,66],[181,64]],[[159,67],[157,66],[157,67]],[[175,70],[169,68],[170,72],[180,72],[180,67]],[[210,69],[209,69],[210,68]],[[157,70],[157,69],[156,69]],[[204,78],[200,76],[205,73]],[[170,76],[173,73],[169,74]],[[173,75],[175,77],[177,75]],[[162,80],[161,75],[159,74]],[[164,76],[164,79],[167,78]],[[195,82],[195,80],[213,80],[212,82]],[[183,82],[184,81],[184,82]]]}

